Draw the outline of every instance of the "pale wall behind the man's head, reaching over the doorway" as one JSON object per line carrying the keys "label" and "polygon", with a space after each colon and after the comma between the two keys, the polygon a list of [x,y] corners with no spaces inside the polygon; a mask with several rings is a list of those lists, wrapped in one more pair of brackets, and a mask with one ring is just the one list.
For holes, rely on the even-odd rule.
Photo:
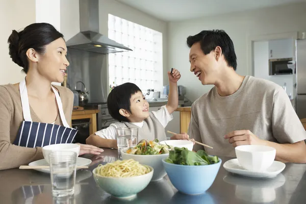
{"label": "pale wall behind the man's head, reaching over the doorway", "polygon": [[[248,38],[252,35],[306,31],[306,3],[217,15],[187,21],[170,22],[168,28],[168,66],[182,73],[180,85],[187,87],[187,97],[194,101],[212,86],[202,86],[189,71],[189,48],[186,38],[202,30],[223,29],[232,38],[238,58],[237,73],[250,75],[248,63]],[[250,60],[250,59],[249,59]]]}

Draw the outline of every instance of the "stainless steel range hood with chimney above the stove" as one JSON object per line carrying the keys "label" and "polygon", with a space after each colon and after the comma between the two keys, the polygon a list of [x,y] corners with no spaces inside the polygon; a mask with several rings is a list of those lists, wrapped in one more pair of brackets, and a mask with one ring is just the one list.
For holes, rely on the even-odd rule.
{"label": "stainless steel range hood with chimney above the stove", "polygon": [[66,42],[68,48],[109,54],[133,51],[99,33],[99,0],[80,1],[80,33]]}

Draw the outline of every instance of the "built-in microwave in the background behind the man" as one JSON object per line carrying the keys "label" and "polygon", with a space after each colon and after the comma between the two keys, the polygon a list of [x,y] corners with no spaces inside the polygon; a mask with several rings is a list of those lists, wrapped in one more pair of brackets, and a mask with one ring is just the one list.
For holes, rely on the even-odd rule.
{"label": "built-in microwave in the background behind the man", "polygon": [[292,74],[293,70],[288,67],[292,64],[290,61],[292,61],[292,58],[269,60],[269,75]]}

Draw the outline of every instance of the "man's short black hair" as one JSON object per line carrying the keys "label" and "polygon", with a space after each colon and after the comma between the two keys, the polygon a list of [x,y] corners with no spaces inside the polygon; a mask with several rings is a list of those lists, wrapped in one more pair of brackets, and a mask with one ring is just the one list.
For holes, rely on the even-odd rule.
{"label": "man's short black hair", "polygon": [[187,45],[190,48],[194,43],[200,42],[201,49],[205,55],[210,54],[217,46],[222,49],[222,54],[228,66],[237,69],[237,57],[234,43],[230,36],[223,30],[201,31],[200,33],[187,37]]}

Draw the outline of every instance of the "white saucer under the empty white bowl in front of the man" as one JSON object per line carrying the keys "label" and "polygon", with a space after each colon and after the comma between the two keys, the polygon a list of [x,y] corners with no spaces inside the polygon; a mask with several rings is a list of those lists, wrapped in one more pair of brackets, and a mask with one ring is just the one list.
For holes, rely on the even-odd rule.
{"label": "white saucer under the empty white bowl in front of the man", "polygon": [[277,174],[281,173],[286,165],[282,162],[274,161],[273,164],[263,172],[249,171],[245,170],[239,165],[238,159],[228,160],[223,164],[226,171],[231,173],[237,173],[244,176],[250,177],[275,177]]}

